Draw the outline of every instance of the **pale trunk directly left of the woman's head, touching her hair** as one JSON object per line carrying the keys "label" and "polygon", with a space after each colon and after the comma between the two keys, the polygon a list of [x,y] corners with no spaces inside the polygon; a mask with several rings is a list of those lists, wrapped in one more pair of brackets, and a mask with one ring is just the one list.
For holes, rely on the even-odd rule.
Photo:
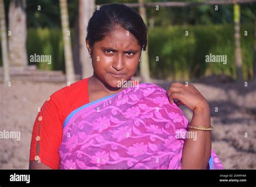
{"label": "pale trunk directly left of the woman's head, touching her hair", "polygon": [[86,48],[87,25],[95,9],[95,0],[79,0],[79,58],[82,65],[82,78],[93,75],[92,62]]}

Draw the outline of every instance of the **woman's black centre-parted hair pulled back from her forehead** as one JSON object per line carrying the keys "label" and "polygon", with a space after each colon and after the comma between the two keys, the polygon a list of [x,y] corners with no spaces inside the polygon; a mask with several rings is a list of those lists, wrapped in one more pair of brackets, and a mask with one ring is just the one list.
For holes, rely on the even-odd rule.
{"label": "woman's black centre-parted hair pulled back from her forehead", "polygon": [[96,10],[89,20],[86,40],[93,47],[96,41],[103,40],[116,26],[131,32],[146,51],[147,26],[136,10],[124,4],[107,4]]}

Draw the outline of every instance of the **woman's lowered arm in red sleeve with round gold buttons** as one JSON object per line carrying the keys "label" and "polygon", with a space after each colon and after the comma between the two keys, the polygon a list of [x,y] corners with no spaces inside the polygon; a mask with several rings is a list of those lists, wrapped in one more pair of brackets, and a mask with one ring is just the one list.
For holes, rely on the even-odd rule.
{"label": "woman's lowered arm in red sleeve with round gold buttons", "polygon": [[[57,91],[46,100],[33,125],[29,169],[58,169],[58,149],[62,142],[63,123],[60,112],[65,93]],[[38,161],[41,162],[38,162]]]}

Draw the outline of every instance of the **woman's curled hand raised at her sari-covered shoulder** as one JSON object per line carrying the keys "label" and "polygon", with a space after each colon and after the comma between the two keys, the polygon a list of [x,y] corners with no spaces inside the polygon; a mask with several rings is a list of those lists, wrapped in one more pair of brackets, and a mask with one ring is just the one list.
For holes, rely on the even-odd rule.
{"label": "woman's curled hand raised at her sari-covered shoulder", "polygon": [[185,105],[192,111],[204,111],[209,108],[206,99],[192,84],[172,83],[168,97],[171,103],[173,99],[178,99],[176,103],[178,106]]}

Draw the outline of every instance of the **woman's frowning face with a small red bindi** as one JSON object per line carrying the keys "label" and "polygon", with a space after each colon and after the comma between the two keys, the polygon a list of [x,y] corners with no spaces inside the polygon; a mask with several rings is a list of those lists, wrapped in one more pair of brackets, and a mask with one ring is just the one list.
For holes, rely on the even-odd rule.
{"label": "woman's frowning face with a small red bindi", "polygon": [[117,88],[118,81],[130,80],[136,73],[141,47],[132,33],[117,27],[103,40],[95,42],[91,51],[94,74],[110,87]]}

